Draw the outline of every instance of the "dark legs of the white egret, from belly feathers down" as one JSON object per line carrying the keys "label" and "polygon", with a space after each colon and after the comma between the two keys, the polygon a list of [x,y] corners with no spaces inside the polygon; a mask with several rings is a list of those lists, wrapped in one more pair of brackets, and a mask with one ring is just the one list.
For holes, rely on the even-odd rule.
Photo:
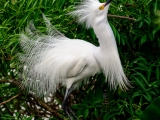
{"label": "dark legs of the white egret, from belly feathers down", "polygon": [[75,116],[74,112],[72,111],[72,109],[69,107],[68,105],[68,98],[71,94],[73,90],[73,87],[66,89],[66,93],[65,93],[65,97],[64,97],[64,101],[62,103],[62,109],[64,110],[64,112],[67,114],[68,118],[70,120],[72,120],[70,114],[74,117],[75,120],[77,120],[77,117]]}

